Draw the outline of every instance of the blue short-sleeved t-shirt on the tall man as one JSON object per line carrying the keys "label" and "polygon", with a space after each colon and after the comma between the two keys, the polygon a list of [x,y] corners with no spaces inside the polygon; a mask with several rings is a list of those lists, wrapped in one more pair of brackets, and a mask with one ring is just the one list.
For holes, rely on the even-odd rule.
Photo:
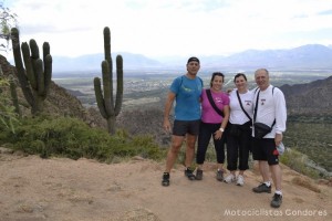
{"label": "blue short-sleeved t-shirt on the tall man", "polygon": [[197,120],[200,119],[199,97],[203,90],[203,81],[198,76],[194,80],[186,75],[176,77],[169,88],[175,98],[175,119]]}

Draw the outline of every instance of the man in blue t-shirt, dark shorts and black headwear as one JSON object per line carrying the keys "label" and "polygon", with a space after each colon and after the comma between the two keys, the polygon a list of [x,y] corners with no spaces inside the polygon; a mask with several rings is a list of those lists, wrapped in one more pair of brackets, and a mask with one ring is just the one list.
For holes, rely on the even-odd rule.
{"label": "man in blue t-shirt, dark shorts and black headwear", "polygon": [[175,164],[177,154],[186,138],[186,170],[185,175],[189,180],[195,180],[190,169],[195,157],[195,143],[199,131],[200,102],[203,81],[196,76],[200,69],[199,60],[195,56],[187,62],[187,73],[175,78],[170,85],[164,113],[164,129],[172,131],[169,113],[175,101],[175,120],[172,135],[172,147],[167,154],[166,169],[163,175],[162,185],[169,186],[169,172]]}

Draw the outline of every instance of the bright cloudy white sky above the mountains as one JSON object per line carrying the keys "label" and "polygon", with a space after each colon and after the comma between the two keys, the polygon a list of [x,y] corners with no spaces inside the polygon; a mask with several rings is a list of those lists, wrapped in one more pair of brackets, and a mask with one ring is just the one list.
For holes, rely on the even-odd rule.
{"label": "bright cloudy white sky above the mountains", "polygon": [[21,42],[52,55],[112,52],[149,57],[229,55],[248,49],[332,45],[332,0],[4,0]]}

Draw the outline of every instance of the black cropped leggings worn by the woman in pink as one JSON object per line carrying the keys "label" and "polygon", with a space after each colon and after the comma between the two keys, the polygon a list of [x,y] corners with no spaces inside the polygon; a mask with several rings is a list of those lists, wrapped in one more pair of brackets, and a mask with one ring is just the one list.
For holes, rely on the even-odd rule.
{"label": "black cropped leggings worn by the woman in pink", "polygon": [[221,139],[215,139],[214,133],[220,128],[221,123],[219,124],[207,124],[201,122],[199,126],[197,152],[196,152],[196,162],[203,165],[205,161],[206,150],[208,148],[211,136],[214,138],[217,162],[224,164],[225,161],[225,141],[226,136],[222,134]]}

